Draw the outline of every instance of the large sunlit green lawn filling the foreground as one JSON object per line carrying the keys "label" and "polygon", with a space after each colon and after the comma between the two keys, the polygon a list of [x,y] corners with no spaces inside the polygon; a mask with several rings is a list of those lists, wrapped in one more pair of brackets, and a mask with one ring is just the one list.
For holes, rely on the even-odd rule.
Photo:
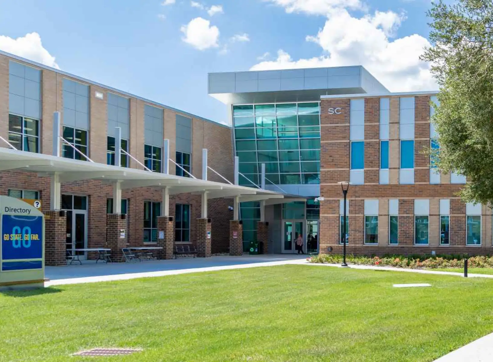
{"label": "large sunlit green lawn filling the foreground", "polygon": [[[8,292],[0,361],[433,361],[493,331],[492,298],[490,279],[315,265]],[[69,357],[93,347],[143,352]]]}

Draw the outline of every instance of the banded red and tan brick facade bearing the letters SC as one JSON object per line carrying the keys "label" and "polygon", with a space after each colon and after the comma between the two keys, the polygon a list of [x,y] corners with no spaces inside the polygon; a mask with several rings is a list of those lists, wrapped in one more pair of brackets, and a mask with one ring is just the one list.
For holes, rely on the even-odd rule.
{"label": "banded red and tan brick facade bearing the letters SC", "polygon": [[[405,97],[412,97],[406,95]],[[380,167],[380,98],[365,98],[364,108],[364,184],[349,188],[349,244],[348,253],[354,254],[422,254],[435,251],[437,254],[470,253],[489,254],[492,248],[492,210],[483,206],[482,243],[480,246],[466,246],[465,204],[457,197],[459,184],[450,183],[450,174],[442,174],[440,184],[429,183],[430,147],[430,95],[415,96],[414,141],[415,168],[414,184],[399,184],[399,97],[389,98],[389,184],[379,184]],[[329,114],[328,109],[340,107],[341,114]],[[321,170],[319,250],[342,252],[339,243],[339,202],[342,192],[339,181],[350,179],[350,99],[321,99]],[[365,219],[364,200],[379,200],[378,245],[364,243]],[[398,199],[398,245],[388,243],[388,200]],[[429,200],[428,245],[415,244],[414,200]],[[450,200],[450,245],[440,245],[439,201]]]}

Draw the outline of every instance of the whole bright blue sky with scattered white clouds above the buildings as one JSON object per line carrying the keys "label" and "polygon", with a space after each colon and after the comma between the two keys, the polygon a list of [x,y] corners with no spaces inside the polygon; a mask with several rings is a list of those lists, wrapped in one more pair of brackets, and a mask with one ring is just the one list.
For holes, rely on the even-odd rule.
{"label": "whole bright blue sky with scattered white clouds above the buildings", "polygon": [[391,91],[435,89],[429,65],[418,59],[428,45],[430,6],[0,0],[0,49],[226,123],[226,106],[207,95],[208,72],[361,64]]}

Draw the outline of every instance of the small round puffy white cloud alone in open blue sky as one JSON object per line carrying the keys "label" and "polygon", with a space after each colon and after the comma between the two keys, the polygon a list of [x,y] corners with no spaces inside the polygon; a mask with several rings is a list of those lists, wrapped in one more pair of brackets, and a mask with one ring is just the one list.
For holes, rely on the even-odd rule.
{"label": "small round puffy white cloud alone in open blue sky", "polygon": [[219,45],[219,29],[211,26],[209,20],[203,18],[192,19],[187,25],[181,27],[181,32],[185,34],[182,40],[199,50],[216,48]]}

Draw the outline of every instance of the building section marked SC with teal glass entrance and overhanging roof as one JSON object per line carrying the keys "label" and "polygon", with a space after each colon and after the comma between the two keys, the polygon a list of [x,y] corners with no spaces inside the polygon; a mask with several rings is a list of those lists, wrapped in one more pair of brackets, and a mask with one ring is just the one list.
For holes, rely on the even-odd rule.
{"label": "building section marked SC with teal glass entrance and overhanging roof", "polygon": [[[209,74],[209,94],[230,109],[240,183],[307,197],[265,208],[272,252],[341,252],[341,185],[348,252],[487,254],[492,210],[456,196],[462,175],[440,174],[429,122],[436,92],[390,93],[361,66]],[[317,202],[317,198],[320,199]],[[243,203],[244,239],[256,237],[259,202]]]}

